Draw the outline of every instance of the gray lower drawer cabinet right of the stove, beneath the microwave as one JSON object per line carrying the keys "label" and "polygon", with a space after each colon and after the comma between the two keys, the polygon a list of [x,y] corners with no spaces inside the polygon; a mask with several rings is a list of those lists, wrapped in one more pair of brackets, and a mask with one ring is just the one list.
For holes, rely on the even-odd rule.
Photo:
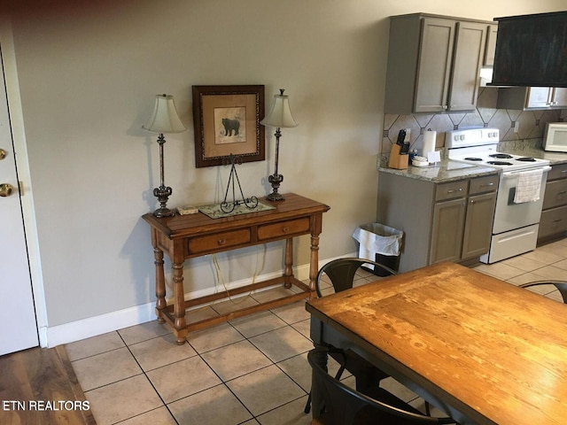
{"label": "gray lower drawer cabinet right of the stove, beneath the microwave", "polygon": [[567,236],[567,164],[551,167],[543,198],[538,243]]}

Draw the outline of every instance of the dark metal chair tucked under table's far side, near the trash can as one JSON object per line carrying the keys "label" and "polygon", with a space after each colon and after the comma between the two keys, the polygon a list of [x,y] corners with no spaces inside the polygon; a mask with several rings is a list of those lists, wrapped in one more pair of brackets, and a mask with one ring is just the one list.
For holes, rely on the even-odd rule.
{"label": "dark metal chair tucked under table's far side, near the trash can", "polygon": [[[376,261],[371,261],[369,259],[357,259],[357,258],[346,258],[346,259],[334,259],[329,263],[325,264],[319,270],[317,277],[315,278],[315,290],[317,292],[317,297],[321,298],[321,278],[323,274],[327,274],[330,279],[330,283],[333,285],[335,292],[340,292],[342,290],[350,290],[353,288],[354,275],[356,271],[365,264],[373,265],[376,269],[380,269],[381,274],[396,274],[395,271],[390,267],[386,267],[383,264],[377,263]],[[357,370],[356,375],[364,375],[364,383],[361,384],[357,379],[357,388],[359,384],[362,386],[366,383],[374,382],[379,383],[382,379],[388,377],[383,371],[377,367],[371,365],[368,361],[362,359],[354,352],[347,352],[346,354],[340,350],[335,350],[332,347],[317,347],[319,353],[325,352],[330,354],[333,359],[336,359],[340,364],[336,379],[340,379],[343,372],[347,368],[351,372],[353,369]],[[350,367],[346,367],[346,359],[348,359],[348,364]],[[363,371],[361,373],[361,371]],[[307,398],[307,404],[305,406],[304,412],[309,413],[311,410],[311,394]]]}

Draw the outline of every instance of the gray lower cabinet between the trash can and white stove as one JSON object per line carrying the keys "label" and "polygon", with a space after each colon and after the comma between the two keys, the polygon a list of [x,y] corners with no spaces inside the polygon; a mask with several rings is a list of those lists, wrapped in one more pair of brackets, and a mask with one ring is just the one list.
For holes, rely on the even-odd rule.
{"label": "gray lower cabinet between the trash can and white stove", "polygon": [[380,173],[377,220],[404,231],[400,272],[486,253],[496,189],[498,174],[433,183]]}

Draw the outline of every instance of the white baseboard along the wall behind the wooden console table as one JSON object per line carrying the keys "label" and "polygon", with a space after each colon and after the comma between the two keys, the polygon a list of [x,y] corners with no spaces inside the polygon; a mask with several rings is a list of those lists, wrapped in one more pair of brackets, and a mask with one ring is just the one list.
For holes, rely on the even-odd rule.
{"label": "white baseboard along the wall behind the wooden console table", "polygon": [[[355,254],[347,254],[341,257],[353,257]],[[325,259],[319,262],[319,267],[328,263],[332,259]],[[266,281],[281,275],[282,272],[262,274],[257,277],[257,282]],[[293,274],[299,281],[309,279],[309,265],[294,267]],[[251,283],[250,280],[239,282],[231,282],[229,289],[237,288],[245,284]],[[268,288],[264,289],[267,290]],[[185,294],[185,299],[199,298],[210,295],[214,289],[198,290]],[[82,319],[81,321],[72,321],[63,325],[40,328],[40,344],[44,348],[55,347],[60,344],[69,344],[82,339],[98,336],[107,332],[113,332],[118,329],[128,328],[130,326],[139,325],[147,321],[153,321],[156,318],[155,302],[136,305],[134,307],[117,310],[112,313],[100,314],[98,316]]]}

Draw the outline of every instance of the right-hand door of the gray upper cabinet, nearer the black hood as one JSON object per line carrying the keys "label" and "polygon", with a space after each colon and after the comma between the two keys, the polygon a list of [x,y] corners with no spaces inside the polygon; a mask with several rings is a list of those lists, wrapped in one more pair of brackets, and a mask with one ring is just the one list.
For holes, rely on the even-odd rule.
{"label": "right-hand door of the gray upper cabinet, nearer the black hood", "polygon": [[477,105],[486,30],[485,24],[475,22],[458,22],[456,25],[449,111],[472,111]]}

